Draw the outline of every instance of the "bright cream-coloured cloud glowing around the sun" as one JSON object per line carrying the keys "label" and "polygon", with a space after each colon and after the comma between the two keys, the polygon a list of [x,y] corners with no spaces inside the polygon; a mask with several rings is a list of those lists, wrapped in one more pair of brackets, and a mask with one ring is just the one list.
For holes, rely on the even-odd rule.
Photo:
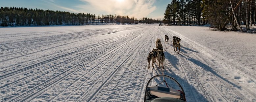
{"label": "bright cream-coloured cloud glowing around the sun", "polygon": [[147,16],[156,9],[155,0],[80,0],[85,5],[78,5],[81,11],[100,14],[120,14],[134,16],[137,19]]}

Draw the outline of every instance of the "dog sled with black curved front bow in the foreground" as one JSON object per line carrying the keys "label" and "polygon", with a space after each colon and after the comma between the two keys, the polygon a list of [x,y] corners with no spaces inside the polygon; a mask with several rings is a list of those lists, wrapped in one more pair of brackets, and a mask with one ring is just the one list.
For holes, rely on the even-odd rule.
{"label": "dog sled with black curved front bow in the foreground", "polygon": [[[164,77],[164,80],[161,83],[166,84],[167,87],[159,86],[161,83],[157,84],[156,86],[148,86],[149,83],[157,77]],[[180,90],[176,90],[172,88],[165,80],[165,78],[171,79],[172,82],[175,82]],[[169,87],[168,87],[168,85]],[[147,82],[145,95],[144,95],[144,102],[186,102],[185,92],[179,82],[172,78],[171,76],[167,75],[156,75],[149,79]]]}

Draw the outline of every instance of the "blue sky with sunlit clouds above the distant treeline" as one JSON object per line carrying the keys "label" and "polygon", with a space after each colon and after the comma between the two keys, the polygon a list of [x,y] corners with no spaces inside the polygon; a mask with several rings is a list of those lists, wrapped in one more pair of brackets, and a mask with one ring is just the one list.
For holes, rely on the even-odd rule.
{"label": "blue sky with sunlit clouds above the distant treeline", "polygon": [[119,14],[152,19],[164,18],[171,0],[0,0],[0,7],[50,9],[74,13]]}

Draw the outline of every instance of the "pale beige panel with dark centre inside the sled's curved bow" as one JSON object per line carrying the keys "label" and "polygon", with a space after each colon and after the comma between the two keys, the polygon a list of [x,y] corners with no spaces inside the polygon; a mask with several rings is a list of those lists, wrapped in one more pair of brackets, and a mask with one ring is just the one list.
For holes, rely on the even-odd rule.
{"label": "pale beige panel with dark centre inside the sled's curved bow", "polygon": [[161,87],[161,86],[149,86],[147,90],[150,94],[155,95],[157,97],[172,97],[172,98],[181,98],[182,93],[178,90]]}

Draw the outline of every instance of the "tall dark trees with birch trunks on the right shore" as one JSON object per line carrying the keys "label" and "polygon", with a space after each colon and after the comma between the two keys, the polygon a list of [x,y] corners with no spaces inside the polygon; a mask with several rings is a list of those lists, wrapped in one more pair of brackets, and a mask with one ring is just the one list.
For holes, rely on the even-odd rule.
{"label": "tall dark trees with birch trunks on the right shore", "polygon": [[241,30],[255,26],[256,0],[171,0],[164,23],[167,25],[211,24],[218,31]]}

